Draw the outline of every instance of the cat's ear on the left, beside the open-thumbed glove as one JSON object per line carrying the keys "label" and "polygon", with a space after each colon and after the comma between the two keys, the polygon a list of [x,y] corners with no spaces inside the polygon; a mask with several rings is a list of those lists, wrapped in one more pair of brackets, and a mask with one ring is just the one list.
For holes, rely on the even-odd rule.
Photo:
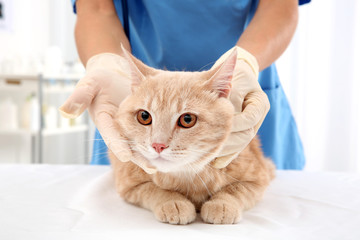
{"label": "cat's ear on the left, beside the open-thumbed glove", "polygon": [[145,80],[145,76],[151,74],[155,69],[147,66],[139,59],[130,54],[122,45],[123,56],[126,58],[129,63],[129,70],[131,74],[131,91],[134,92],[135,89]]}

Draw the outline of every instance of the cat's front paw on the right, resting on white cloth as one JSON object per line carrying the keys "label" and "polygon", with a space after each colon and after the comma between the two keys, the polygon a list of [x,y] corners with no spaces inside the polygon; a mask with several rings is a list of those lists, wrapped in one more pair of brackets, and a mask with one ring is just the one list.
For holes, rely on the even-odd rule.
{"label": "cat's front paw on the right, resting on white cloth", "polygon": [[210,200],[201,207],[201,218],[207,223],[234,224],[240,221],[241,216],[241,209],[225,200]]}

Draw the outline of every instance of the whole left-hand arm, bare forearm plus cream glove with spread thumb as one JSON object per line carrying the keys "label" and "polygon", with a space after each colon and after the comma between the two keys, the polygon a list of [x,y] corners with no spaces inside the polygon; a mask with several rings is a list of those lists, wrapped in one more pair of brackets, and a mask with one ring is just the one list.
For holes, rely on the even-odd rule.
{"label": "whole left-hand arm, bare forearm plus cream glove with spread thumb", "polygon": [[78,0],[76,9],[76,45],[86,73],[59,111],[63,117],[76,118],[87,109],[120,161],[134,161],[147,173],[154,173],[145,158],[134,159],[128,140],[116,125],[119,105],[130,94],[131,72],[124,55],[124,48],[130,50],[130,45],[114,4],[112,0]]}

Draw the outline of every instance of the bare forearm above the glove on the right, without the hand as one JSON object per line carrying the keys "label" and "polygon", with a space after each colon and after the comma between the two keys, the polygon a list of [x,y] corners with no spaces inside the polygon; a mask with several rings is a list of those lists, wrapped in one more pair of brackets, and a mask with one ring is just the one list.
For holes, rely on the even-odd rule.
{"label": "bare forearm above the glove on the right, without the hand", "polygon": [[297,21],[298,0],[260,0],[236,45],[255,56],[261,71],[285,51]]}

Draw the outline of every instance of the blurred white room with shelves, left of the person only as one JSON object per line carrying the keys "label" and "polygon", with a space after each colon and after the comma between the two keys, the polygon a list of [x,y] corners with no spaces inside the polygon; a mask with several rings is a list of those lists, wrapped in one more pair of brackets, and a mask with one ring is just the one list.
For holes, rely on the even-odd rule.
{"label": "blurred white room with shelves, left of the person only", "polygon": [[0,3],[0,163],[88,163],[88,116],[57,111],[84,74],[71,1]]}

